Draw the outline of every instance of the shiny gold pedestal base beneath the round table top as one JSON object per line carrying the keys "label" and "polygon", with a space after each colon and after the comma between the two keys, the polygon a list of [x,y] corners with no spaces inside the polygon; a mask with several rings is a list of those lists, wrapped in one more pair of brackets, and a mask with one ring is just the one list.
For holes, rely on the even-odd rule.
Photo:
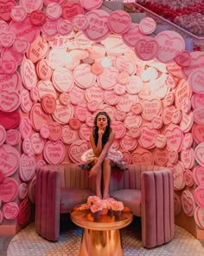
{"label": "shiny gold pedestal base beneath the round table top", "polygon": [[84,228],[80,256],[123,256],[120,232],[115,230],[91,230]]}

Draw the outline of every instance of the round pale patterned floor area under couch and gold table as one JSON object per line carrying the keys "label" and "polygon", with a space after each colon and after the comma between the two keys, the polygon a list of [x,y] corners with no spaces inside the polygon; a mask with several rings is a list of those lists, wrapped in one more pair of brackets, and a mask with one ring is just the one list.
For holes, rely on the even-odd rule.
{"label": "round pale patterned floor area under couch and gold table", "polygon": [[[22,229],[10,241],[8,256],[77,256],[79,255],[82,228],[71,225],[68,230],[61,231],[57,242],[49,242],[35,233],[35,224],[31,223]],[[175,226],[175,238],[168,244],[145,249],[142,246],[138,228],[130,225],[121,229],[124,256],[155,255],[155,256],[203,256],[204,248],[199,240],[180,226]]]}

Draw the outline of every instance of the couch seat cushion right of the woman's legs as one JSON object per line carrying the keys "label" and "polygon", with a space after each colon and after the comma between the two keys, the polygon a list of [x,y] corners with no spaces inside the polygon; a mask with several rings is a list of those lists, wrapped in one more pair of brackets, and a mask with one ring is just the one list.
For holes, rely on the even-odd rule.
{"label": "couch seat cushion right of the woman's legs", "polygon": [[141,216],[141,191],[137,189],[121,189],[110,194],[115,200],[124,203],[124,207],[129,207],[133,215]]}

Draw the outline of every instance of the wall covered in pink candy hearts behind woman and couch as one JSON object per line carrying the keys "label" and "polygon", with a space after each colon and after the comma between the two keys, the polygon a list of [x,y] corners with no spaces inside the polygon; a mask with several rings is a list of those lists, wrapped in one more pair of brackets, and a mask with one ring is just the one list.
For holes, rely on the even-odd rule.
{"label": "wall covered in pink candy hearts behind woman and couch", "polygon": [[38,167],[80,164],[99,110],[128,164],[171,168],[175,218],[202,231],[204,53],[103,1],[54,2],[1,2],[0,232],[28,223]]}

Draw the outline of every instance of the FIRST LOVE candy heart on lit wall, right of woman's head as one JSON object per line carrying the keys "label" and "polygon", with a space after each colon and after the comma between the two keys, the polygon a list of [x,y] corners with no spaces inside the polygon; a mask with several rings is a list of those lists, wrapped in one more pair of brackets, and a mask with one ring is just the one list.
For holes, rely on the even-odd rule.
{"label": "FIRST LOVE candy heart on lit wall, right of woman's head", "polygon": [[143,100],[142,117],[147,121],[151,121],[154,117],[159,116],[162,111],[162,102],[159,99]]}

